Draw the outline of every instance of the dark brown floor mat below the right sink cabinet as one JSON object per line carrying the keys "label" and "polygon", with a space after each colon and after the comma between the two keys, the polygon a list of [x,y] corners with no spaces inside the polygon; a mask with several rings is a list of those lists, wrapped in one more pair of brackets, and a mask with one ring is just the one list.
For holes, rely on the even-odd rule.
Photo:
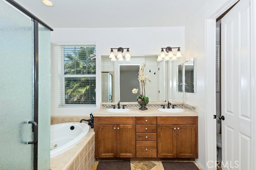
{"label": "dark brown floor mat below the right sink cabinet", "polygon": [[164,170],[199,170],[194,162],[168,162],[162,161]]}

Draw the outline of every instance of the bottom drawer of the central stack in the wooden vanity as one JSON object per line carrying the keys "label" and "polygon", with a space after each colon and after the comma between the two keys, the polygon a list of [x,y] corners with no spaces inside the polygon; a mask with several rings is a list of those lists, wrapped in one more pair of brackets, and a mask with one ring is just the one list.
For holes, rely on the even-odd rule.
{"label": "bottom drawer of the central stack in the wooden vanity", "polygon": [[137,141],[137,158],[156,158],[156,141]]}

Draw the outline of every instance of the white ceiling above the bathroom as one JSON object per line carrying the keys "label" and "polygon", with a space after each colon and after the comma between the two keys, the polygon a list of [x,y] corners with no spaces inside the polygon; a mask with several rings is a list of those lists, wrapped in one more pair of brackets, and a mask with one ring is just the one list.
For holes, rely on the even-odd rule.
{"label": "white ceiling above the bathroom", "polygon": [[184,26],[206,0],[16,0],[53,28]]}

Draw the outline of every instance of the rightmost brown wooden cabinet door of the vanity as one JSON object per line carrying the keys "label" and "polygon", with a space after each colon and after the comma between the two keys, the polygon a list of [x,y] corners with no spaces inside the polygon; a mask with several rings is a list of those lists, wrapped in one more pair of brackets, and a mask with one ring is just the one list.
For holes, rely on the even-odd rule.
{"label": "rightmost brown wooden cabinet door of the vanity", "polygon": [[176,125],[177,158],[196,158],[196,125]]}

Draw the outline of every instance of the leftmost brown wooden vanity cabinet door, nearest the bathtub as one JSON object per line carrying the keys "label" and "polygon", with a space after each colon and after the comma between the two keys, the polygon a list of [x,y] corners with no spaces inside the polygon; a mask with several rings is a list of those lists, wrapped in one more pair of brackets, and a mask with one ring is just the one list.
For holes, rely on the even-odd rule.
{"label": "leftmost brown wooden vanity cabinet door, nearest the bathtub", "polygon": [[116,157],[116,125],[98,125],[98,157]]}

